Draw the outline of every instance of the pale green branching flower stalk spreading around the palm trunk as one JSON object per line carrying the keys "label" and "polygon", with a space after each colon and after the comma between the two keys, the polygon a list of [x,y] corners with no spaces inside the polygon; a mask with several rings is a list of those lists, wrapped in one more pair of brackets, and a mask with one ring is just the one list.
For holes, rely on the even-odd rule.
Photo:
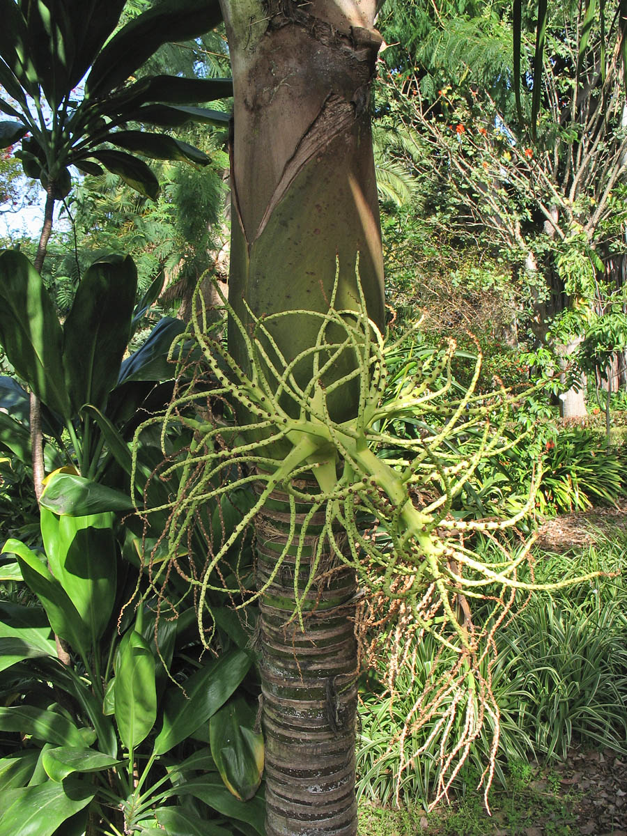
{"label": "pale green branching flower stalk spreading around the palm trunk", "polygon": [[[390,395],[386,356],[398,343],[385,344],[363,298],[357,311],[338,310],[334,303],[335,293],[326,313],[297,310],[257,318],[249,311],[249,333],[222,297],[223,313],[247,346],[249,371],[244,371],[227,353],[197,295],[188,332],[171,349],[179,380],[181,375],[191,377],[191,385],[176,390],[166,415],[151,417],[135,434],[136,451],[141,434],[161,425],[164,456],[169,426],[178,423],[194,434],[191,445],[166,456],[152,476],[176,477],[179,487],[171,502],[144,507],[146,515],[168,515],[163,538],[151,555],[150,585],[164,596],[165,580],[176,568],[195,591],[199,630],[208,647],[210,593],[243,594],[238,609],[264,596],[267,602],[273,582],[289,562],[295,602],[290,620],[295,632],[303,631],[308,619],[324,608],[321,578],[330,583],[334,567],[349,566],[359,580],[353,604],[361,658],[374,658],[375,647],[382,645],[394,649],[390,691],[395,669],[409,658],[415,642],[430,633],[441,646],[434,662],[438,675],[417,698],[404,732],[429,723],[429,743],[440,739],[437,798],[446,796],[486,715],[494,730],[492,763],[484,773],[487,793],[498,740],[498,707],[490,685],[494,633],[507,618],[517,590],[548,586],[533,583],[533,568],[530,580],[521,576],[531,543],[512,548],[502,536],[530,512],[535,488],[524,507],[505,520],[461,521],[451,514],[451,504],[481,461],[512,446],[503,429],[515,397],[502,386],[490,395],[475,392],[481,359],[471,385],[457,395],[451,374],[453,341],[417,364]],[[294,327],[305,317],[318,324],[314,346],[293,359],[283,356],[273,339],[273,325],[285,317],[293,318]],[[310,375],[302,375],[304,365]],[[298,382],[303,377],[304,385]],[[357,393],[358,414],[336,421],[334,403],[349,390]],[[407,417],[419,420],[421,434],[415,439],[395,431],[395,422]],[[451,462],[452,441],[463,442],[468,451],[461,461]],[[386,453],[390,449],[393,455]],[[537,473],[536,483],[538,478]],[[189,556],[189,532],[201,523],[203,507],[242,488],[254,492],[254,501],[232,531],[224,531],[219,548],[207,544],[200,573]],[[225,586],[224,576],[232,573],[227,553],[278,496],[288,513],[283,515],[273,568],[265,575],[257,572],[255,589],[246,588],[242,578]],[[492,560],[473,548],[477,536],[492,543]],[[492,605],[481,625],[473,624],[469,600]],[[403,625],[400,632],[395,622]],[[373,625],[374,640],[369,635]],[[412,753],[405,765],[418,755]]]}

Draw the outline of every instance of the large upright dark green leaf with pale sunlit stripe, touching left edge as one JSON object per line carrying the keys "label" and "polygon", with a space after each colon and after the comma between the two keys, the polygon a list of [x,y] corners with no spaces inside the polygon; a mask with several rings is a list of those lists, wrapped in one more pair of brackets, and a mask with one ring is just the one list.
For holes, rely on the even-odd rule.
{"label": "large upright dark green leaf with pale sunlit stripe, touching left edge", "polygon": [[0,343],[35,395],[69,418],[59,319],[39,273],[16,250],[0,253]]}

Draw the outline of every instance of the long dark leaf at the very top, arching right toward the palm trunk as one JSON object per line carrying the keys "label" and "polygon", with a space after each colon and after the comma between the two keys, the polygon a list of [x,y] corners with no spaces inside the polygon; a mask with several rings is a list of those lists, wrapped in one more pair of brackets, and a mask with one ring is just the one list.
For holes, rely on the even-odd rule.
{"label": "long dark leaf at the very top, arching right toward the palm trunk", "polygon": [[129,78],[162,43],[185,41],[222,20],[218,0],[162,0],[131,20],[102,49],[85,84],[89,98],[108,93]]}

